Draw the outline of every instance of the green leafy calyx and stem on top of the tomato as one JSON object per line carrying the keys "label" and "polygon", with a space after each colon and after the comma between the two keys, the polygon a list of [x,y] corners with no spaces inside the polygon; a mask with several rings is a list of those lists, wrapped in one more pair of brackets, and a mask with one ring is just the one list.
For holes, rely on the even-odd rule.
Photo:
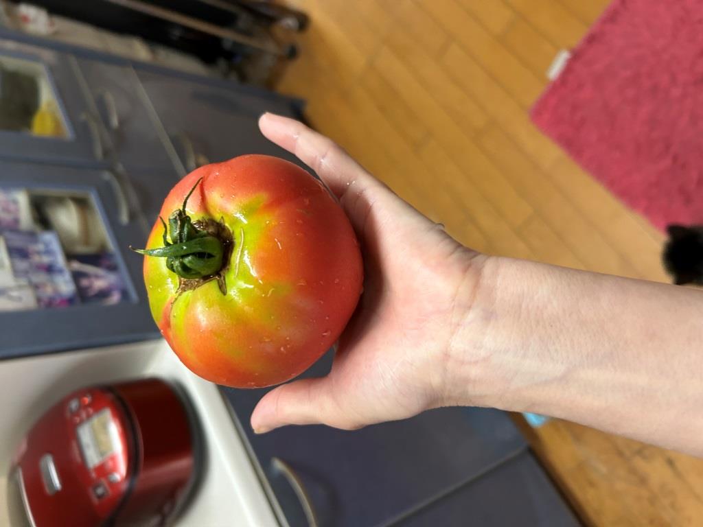
{"label": "green leafy calyx and stem on top of the tomato", "polygon": [[[183,200],[183,207],[172,212],[168,226],[159,216],[164,226],[163,247],[129,248],[146,256],[165,258],[169,271],[176,273],[182,279],[181,288],[192,289],[205,281],[217,278],[220,281],[220,289],[224,293],[222,271],[228,261],[226,256],[231,252],[232,236],[221,222],[212,219],[193,222],[186,212],[188,198],[201,182],[202,178],[195,182],[186,199]],[[197,283],[190,282],[191,280]]]}

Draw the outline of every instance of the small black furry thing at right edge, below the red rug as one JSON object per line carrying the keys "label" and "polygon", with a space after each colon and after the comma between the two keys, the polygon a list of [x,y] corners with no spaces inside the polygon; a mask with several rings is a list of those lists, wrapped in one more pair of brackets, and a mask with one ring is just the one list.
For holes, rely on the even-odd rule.
{"label": "small black furry thing at right edge, below the red rug", "polygon": [[703,285],[703,226],[670,225],[664,267],[676,285]]}

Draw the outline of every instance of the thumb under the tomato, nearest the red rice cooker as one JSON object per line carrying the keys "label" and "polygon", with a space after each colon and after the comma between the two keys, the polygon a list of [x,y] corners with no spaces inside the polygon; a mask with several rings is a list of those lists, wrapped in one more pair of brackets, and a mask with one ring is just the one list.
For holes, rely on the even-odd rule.
{"label": "thumb under the tomato, nearest the red rice cooker", "polygon": [[328,377],[301,379],[269,391],[254,408],[251,424],[257,434],[287,424],[330,424],[336,428],[356,428],[335,403]]}

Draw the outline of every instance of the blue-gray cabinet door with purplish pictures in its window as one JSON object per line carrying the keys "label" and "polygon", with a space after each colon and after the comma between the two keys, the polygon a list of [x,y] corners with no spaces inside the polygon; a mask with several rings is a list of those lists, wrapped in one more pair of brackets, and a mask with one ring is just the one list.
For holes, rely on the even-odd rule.
{"label": "blue-gray cabinet door with purplish pictures in its window", "polygon": [[14,283],[0,287],[0,359],[158,337],[142,259],[127,249],[146,241],[145,224],[115,174],[13,161],[0,174],[4,204],[28,203],[20,222],[34,222],[2,219]]}

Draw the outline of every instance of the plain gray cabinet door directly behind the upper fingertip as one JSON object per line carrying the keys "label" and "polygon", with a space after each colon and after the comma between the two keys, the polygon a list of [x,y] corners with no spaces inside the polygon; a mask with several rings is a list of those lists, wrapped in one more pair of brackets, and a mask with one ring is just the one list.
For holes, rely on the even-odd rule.
{"label": "plain gray cabinet door directly behind the upper fingertip", "polygon": [[183,171],[243,154],[294,157],[271,144],[258,129],[263,112],[295,116],[292,100],[233,83],[199,82],[150,70],[137,70]]}

